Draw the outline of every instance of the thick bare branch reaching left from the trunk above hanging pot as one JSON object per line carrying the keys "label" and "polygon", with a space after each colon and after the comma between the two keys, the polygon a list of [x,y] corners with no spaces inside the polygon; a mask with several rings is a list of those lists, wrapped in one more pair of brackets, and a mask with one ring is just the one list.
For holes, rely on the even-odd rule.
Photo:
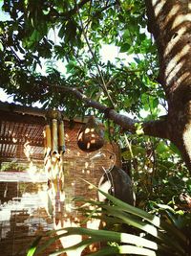
{"label": "thick bare branch reaching left from the trunk above hanging pot", "polygon": [[70,88],[60,85],[51,85],[47,86],[56,88],[59,92],[70,92],[78,100],[81,100],[88,106],[92,106],[99,110],[100,112],[107,113],[107,118],[113,120],[121,128],[128,130],[132,133],[136,133],[139,127],[142,129],[144,135],[155,136],[159,138],[168,139],[168,129],[167,129],[167,118],[164,116],[161,120],[149,121],[149,122],[140,122],[138,120],[129,118],[128,116],[117,113],[115,109],[108,108],[106,105],[101,105],[98,102],[88,98],[86,95],[81,93],[77,88]]}

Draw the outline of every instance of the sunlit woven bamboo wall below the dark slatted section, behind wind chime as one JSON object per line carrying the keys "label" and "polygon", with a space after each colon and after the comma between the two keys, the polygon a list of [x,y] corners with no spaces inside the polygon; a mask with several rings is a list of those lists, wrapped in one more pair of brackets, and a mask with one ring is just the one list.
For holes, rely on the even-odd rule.
{"label": "sunlit woven bamboo wall below the dark slatted section, behind wind chime", "polygon": [[[116,164],[120,165],[117,146],[105,144],[104,147],[92,153],[80,151],[76,146],[76,137],[80,123],[71,128],[65,124],[66,152],[63,158],[64,165],[64,193],[65,199],[62,205],[62,216],[55,226],[53,212],[50,210],[48,197],[49,187],[46,176],[42,171],[31,165],[25,173],[29,176],[23,178],[24,173],[0,173],[0,255],[24,256],[33,238],[46,230],[52,230],[63,226],[74,226],[80,223],[81,216],[74,209],[76,204],[74,197],[97,198],[96,190],[80,178],[97,185],[103,175],[103,168],[108,169],[114,164],[114,156],[117,155]],[[30,164],[30,163],[29,163]],[[40,173],[40,174],[39,174]],[[91,223],[90,223],[91,224]],[[62,241],[69,244],[70,241]],[[61,242],[53,244],[50,251],[61,246]],[[49,251],[42,253],[49,255]],[[76,255],[75,255],[76,256]]]}

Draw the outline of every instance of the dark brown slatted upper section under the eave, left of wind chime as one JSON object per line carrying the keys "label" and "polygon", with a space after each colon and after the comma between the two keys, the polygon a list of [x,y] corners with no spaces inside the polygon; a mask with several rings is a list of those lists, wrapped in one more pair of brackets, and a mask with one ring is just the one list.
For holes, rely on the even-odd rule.
{"label": "dark brown slatted upper section under the eave, left of wind chime", "polygon": [[26,162],[29,150],[32,160],[43,161],[45,114],[46,110],[37,107],[0,102],[0,162]]}

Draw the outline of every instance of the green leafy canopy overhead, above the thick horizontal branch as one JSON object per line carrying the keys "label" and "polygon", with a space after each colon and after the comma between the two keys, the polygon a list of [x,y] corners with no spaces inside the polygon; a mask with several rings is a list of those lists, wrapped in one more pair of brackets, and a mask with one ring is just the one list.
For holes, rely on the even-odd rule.
{"label": "green leafy canopy overhead, above the thick horizontal branch", "polygon": [[[0,22],[0,83],[15,101],[60,106],[73,118],[87,106],[53,87],[64,85],[117,111],[139,117],[144,109],[152,118],[159,115],[164,94],[143,1],[9,0],[3,10],[10,17]],[[116,46],[126,59],[105,63],[103,44]]]}

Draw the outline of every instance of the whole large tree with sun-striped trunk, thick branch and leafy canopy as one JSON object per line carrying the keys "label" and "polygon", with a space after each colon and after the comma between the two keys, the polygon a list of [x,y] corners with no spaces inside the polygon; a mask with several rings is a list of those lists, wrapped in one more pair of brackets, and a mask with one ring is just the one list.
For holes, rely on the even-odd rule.
{"label": "whole large tree with sun-striped trunk, thick branch and leafy canopy", "polygon": [[[70,118],[97,109],[128,132],[168,139],[191,170],[190,9],[182,0],[4,0],[10,18],[0,22],[0,86],[22,104],[62,107]],[[104,63],[102,44],[133,60]],[[46,60],[42,75],[36,67]],[[150,110],[146,119],[140,109]]]}

